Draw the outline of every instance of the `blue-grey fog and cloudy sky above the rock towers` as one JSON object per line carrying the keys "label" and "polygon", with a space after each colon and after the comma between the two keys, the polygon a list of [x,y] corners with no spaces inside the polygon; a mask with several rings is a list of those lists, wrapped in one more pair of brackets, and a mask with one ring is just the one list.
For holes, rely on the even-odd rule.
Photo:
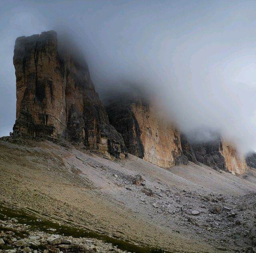
{"label": "blue-grey fog and cloudy sky above the rock towers", "polygon": [[192,141],[219,132],[256,150],[255,1],[1,3],[0,136],[15,121],[15,39],[56,30],[86,58],[100,97],[138,86]]}

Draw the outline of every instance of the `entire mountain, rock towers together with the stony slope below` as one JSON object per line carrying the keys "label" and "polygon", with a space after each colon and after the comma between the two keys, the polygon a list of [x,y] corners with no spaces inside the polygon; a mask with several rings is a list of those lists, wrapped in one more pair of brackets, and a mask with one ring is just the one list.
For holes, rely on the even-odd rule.
{"label": "entire mountain, rock towers together with the stony slope below", "polygon": [[255,154],[245,160],[225,136],[191,142],[144,91],[103,104],[64,44],[54,31],[15,43],[0,253],[254,252]]}

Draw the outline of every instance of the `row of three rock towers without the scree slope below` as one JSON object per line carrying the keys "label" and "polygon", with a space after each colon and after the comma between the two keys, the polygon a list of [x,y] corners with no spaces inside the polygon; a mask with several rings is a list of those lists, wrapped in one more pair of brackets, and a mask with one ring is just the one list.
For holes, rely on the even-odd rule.
{"label": "row of three rock towers without the scree slope below", "polygon": [[143,93],[116,95],[105,110],[86,61],[74,48],[60,45],[54,31],[16,39],[14,136],[68,141],[110,159],[123,159],[129,152],[162,168],[190,160],[234,174],[246,172],[244,158],[223,138],[190,145]]}

